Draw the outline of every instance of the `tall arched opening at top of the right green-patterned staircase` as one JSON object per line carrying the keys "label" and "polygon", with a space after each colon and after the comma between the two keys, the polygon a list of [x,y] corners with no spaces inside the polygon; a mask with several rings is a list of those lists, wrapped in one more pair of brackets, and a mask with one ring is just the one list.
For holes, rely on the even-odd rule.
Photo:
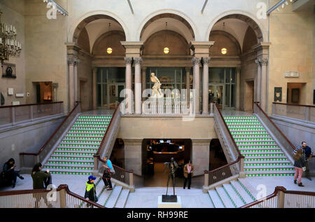
{"label": "tall arched opening at top of the right green-patterned staircase", "polygon": [[[260,27],[246,15],[226,15],[211,28],[209,41],[215,41],[209,50],[209,102],[223,110],[251,112],[248,107],[253,107],[254,99],[246,98],[253,98],[256,90],[256,46],[263,41]],[[253,87],[248,90],[246,83]]]}

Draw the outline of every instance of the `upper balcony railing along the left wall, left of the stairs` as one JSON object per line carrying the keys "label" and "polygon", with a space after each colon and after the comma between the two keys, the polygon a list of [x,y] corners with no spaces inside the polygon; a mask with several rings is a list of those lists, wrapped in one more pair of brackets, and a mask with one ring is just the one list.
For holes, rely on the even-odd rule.
{"label": "upper balcony railing along the left wall, left of the stairs", "polygon": [[64,113],[64,102],[0,106],[0,128]]}

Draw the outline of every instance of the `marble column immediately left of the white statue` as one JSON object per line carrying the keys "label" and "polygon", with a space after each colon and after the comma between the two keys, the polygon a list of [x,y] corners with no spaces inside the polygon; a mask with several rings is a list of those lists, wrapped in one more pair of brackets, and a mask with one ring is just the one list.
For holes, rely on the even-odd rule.
{"label": "marble column immediately left of the white statue", "polygon": [[141,57],[134,58],[134,113],[141,114]]}

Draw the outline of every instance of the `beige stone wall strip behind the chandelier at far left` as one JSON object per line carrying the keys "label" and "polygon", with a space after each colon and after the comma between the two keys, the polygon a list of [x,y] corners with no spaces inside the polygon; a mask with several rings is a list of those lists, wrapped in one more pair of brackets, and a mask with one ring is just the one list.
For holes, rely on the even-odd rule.
{"label": "beige stone wall strip behind the chandelier at far left", "polygon": [[[22,43],[22,53],[20,57],[10,57],[10,60],[4,61],[15,64],[17,78],[2,78],[0,74],[0,92],[5,98],[4,106],[9,106],[14,101],[25,104],[25,18],[23,16],[24,1],[3,0],[0,1],[2,11],[1,22],[6,25],[13,25],[17,29],[17,41]],[[0,70],[2,71],[1,67]],[[8,95],[8,88],[13,88],[14,95]],[[16,93],[24,93],[24,97],[15,97]]]}

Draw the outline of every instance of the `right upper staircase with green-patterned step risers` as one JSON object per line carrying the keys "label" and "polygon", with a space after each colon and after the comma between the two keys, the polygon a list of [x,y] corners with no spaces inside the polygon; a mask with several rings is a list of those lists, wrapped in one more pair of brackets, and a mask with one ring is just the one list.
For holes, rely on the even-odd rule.
{"label": "right upper staircase with green-patterned step risers", "polygon": [[294,176],[294,167],[256,116],[223,116],[241,155],[246,176]]}

